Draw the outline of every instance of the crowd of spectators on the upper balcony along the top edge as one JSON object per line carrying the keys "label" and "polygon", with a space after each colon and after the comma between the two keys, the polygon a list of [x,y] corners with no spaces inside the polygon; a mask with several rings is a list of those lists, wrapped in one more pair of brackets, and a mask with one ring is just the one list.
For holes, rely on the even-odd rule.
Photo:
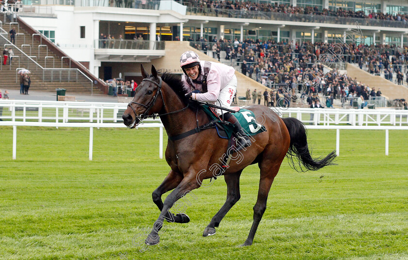
{"label": "crowd of spectators on the upper balcony along the top edge", "polygon": [[336,17],[352,17],[352,18],[366,18],[388,21],[408,21],[407,14],[384,14],[381,12],[366,14],[364,11],[352,11],[344,10],[341,7],[336,11],[330,9],[319,9],[316,5],[299,7],[289,4],[278,3],[260,3],[251,1],[221,1],[221,0],[190,0],[187,2],[181,2],[185,5],[201,9],[204,13],[214,13],[218,15],[219,10],[237,10],[237,11],[260,11],[260,12],[273,12],[295,15],[326,15]]}

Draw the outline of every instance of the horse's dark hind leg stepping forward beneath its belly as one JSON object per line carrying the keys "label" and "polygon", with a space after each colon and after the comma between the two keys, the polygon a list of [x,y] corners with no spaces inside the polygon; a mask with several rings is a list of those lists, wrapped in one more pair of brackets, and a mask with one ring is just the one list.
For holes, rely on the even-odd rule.
{"label": "horse's dark hind leg stepping forward beneath its belly", "polygon": [[242,170],[228,174],[224,176],[225,183],[227,184],[227,200],[221,209],[213,216],[210,224],[204,229],[203,236],[211,236],[215,234],[215,228],[218,228],[222,218],[228,213],[228,211],[237,203],[241,198],[239,193],[239,177],[241,176]]}

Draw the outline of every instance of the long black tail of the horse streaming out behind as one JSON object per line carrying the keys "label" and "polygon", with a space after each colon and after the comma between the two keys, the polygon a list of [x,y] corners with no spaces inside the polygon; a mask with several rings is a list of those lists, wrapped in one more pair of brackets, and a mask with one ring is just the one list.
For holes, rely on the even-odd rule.
{"label": "long black tail of the horse streaming out behind", "polygon": [[[290,146],[288,151],[288,159],[291,161],[291,165],[297,171],[318,170],[327,165],[334,165],[333,160],[336,158],[336,152],[329,153],[323,159],[313,159],[309,148],[307,146],[306,128],[305,125],[296,118],[283,118],[286,127],[289,131]],[[299,169],[296,167],[293,158],[298,159]],[[303,166],[306,168],[303,168]]]}

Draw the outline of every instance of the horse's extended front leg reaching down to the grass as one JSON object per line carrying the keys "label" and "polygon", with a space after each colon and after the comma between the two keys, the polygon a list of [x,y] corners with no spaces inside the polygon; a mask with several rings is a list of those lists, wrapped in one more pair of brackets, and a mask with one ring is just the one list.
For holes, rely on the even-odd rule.
{"label": "horse's extended front leg reaching down to the grass", "polygon": [[[169,214],[170,208],[174,205],[174,203],[180,199],[181,197],[188,194],[188,192],[192,191],[200,187],[196,180],[195,174],[187,174],[181,183],[167,196],[163,203],[163,209],[154,222],[153,230],[150,232],[149,236],[146,239],[147,245],[157,245],[160,241],[158,232],[163,227],[163,220],[166,219],[170,215],[170,219],[167,219],[169,222],[174,222],[174,219],[171,218],[171,214]],[[163,231],[162,231],[163,232]]]}

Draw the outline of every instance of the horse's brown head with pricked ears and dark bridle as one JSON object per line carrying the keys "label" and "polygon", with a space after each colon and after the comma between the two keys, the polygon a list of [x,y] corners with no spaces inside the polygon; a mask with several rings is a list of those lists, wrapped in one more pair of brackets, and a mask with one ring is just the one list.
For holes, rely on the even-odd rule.
{"label": "horse's brown head with pricked ears and dark bridle", "polygon": [[[143,80],[137,86],[135,97],[122,115],[123,123],[129,128],[135,128],[140,121],[158,113],[163,106],[162,79],[157,76],[156,69],[152,65],[151,76],[144,70],[142,64],[140,70]],[[160,102],[157,102],[158,99],[161,99]]]}

